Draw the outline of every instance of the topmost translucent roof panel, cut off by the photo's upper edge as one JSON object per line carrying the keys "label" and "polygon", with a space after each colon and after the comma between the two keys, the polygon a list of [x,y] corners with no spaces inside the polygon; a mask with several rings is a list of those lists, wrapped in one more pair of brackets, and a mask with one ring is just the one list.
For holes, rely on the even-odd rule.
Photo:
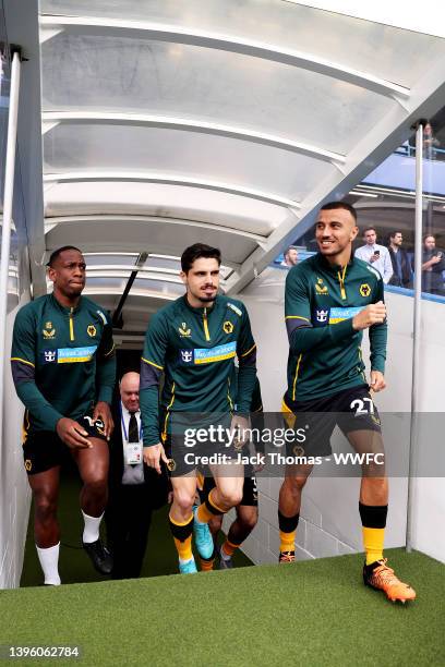
{"label": "topmost translucent roof panel, cut off by the photo's upper edge", "polygon": [[281,0],[44,0],[40,7],[45,13],[236,35],[316,53],[407,87],[419,78],[428,61],[443,52],[438,38]]}

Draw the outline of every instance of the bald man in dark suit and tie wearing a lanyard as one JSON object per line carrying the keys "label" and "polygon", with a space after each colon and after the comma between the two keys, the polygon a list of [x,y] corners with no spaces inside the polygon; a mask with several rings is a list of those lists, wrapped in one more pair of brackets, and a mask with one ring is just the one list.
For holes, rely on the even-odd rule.
{"label": "bald man in dark suit and tie wearing a lanyard", "polygon": [[152,511],[167,500],[166,475],[144,464],[140,416],[140,374],[125,373],[113,402],[110,441],[109,502],[105,514],[112,579],[140,577]]}

